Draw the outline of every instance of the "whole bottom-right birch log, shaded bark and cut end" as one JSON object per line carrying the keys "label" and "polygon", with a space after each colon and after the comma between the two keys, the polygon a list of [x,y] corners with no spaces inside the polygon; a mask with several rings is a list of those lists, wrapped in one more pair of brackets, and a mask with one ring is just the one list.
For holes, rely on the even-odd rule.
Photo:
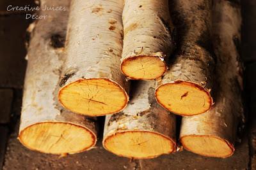
{"label": "whole bottom-right birch log, shaded bark and cut end", "polygon": [[211,110],[182,118],[180,141],[191,152],[208,157],[229,157],[234,152],[237,123],[243,115],[241,99],[241,11],[231,1],[214,1],[213,38],[218,57],[218,93]]}

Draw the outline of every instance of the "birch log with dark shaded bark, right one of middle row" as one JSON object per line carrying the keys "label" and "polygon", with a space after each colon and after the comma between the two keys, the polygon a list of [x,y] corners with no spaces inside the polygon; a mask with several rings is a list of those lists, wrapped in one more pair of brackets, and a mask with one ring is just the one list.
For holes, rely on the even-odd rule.
{"label": "birch log with dark shaded bark, right one of middle row", "polygon": [[180,0],[174,4],[173,19],[182,24],[177,27],[182,37],[170,69],[158,81],[156,99],[177,115],[198,115],[212,105],[211,0]]}

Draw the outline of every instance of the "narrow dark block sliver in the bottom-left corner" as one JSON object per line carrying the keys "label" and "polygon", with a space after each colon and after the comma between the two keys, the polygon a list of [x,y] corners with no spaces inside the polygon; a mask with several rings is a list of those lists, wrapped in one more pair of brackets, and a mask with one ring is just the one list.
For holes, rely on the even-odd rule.
{"label": "narrow dark block sliver in the bottom-left corner", "polygon": [[8,137],[8,127],[0,125],[0,169],[2,169],[4,162],[4,153]]}

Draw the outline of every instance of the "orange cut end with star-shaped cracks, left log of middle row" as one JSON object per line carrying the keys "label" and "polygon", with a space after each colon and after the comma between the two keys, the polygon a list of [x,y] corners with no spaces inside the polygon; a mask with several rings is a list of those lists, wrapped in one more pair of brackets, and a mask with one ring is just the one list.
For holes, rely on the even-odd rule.
{"label": "orange cut end with star-shaped cracks, left log of middle row", "polygon": [[107,78],[77,80],[59,92],[60,103],[70,111],[88,116],[116,113],[125,108],[128,95]]}

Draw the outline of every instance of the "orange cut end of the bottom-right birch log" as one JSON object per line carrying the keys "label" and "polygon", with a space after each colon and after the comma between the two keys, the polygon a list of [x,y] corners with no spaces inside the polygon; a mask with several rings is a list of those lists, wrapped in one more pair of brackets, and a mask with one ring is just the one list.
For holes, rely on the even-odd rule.
{"label": "orange cut end of the bottom-right birch log", "polygon": [[234,146],[232,144],[216,136],[183,136],[180,138],[180,142],[186,150],[205,157],[225,158],[230,157],[234,153]]}

